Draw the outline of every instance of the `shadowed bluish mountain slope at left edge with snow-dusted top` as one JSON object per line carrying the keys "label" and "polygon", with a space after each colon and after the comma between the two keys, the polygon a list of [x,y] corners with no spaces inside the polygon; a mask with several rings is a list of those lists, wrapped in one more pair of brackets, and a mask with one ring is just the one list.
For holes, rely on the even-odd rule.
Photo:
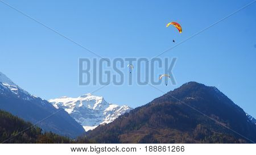
{"label": "shadowed bluish mountain slope at left edge with snow-dusted top", "polygon": [[0,109],[33,124],[38,123],[36,125],[44,131],[52,131],[69,137],[84,133],[84,128],[67,112],[57,110],[47,100],[31,95],[1,72]]}

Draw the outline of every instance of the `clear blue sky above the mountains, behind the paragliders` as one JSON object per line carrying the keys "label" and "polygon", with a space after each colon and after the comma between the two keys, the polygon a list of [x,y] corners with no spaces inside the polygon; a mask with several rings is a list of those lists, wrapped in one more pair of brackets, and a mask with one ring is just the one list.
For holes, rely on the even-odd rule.
{"label": "clear blue sky above the mountains, behind the paragliders", "polygon": [[[6,1],[103,57],[154,57],[246,1]],[[91,53],[0,3],[0,71],[44,99],[78,97],[100,86],[78,85],[78,60]],[[177,57],[176,86],[216,86],[256,117],[256,3],[160,57]],[[141,106],[162,93],[151,86],[109,85],[94,93],[108,102]]]}

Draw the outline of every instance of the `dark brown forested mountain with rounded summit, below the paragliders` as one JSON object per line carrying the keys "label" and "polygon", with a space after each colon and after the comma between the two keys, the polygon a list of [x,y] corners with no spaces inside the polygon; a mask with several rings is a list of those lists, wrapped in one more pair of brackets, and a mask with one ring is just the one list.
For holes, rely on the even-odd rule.
{"label": "dark brown forested mountain with rounded summit, below the paragliders", "polygon": [[97,143],[254,143],[256,126],[216,87],[188,82],[88,137]]}

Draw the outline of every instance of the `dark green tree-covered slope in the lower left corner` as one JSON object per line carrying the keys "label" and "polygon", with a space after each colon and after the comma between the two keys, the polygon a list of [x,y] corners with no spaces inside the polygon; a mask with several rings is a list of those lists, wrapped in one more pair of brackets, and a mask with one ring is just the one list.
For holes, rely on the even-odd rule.
{"label": "dark green tree-covered slope in the lower left corner", "polygon": [[85,136],[75,140],[59,136],[52,132],[43,132],[41,128],[30,122],[0,110],[0,143],[93,143]]}

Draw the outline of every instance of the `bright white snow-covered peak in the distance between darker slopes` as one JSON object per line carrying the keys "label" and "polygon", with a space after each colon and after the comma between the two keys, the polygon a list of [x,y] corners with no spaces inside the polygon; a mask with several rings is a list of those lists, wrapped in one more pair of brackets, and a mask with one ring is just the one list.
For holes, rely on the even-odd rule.
{"label": "bright white snow-covered peak in the distance between darker slopes", "polygon": [[110,123],[132,109],[126,105],[108,103],[103,97],[92,94],[81,95],[78,98],[61,97],[48,102],[56,108],[64,108],[85,131],[92,130],[100,124]]}

